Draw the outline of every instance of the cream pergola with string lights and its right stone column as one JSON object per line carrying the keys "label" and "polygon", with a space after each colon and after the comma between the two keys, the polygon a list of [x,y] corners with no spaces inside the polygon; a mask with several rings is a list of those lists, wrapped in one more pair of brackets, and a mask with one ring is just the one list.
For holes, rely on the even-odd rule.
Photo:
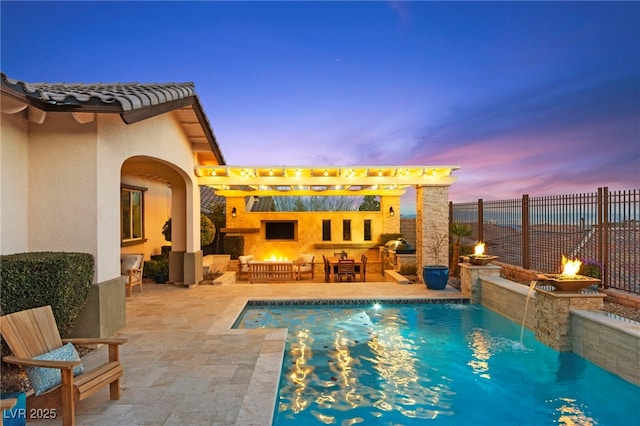
{"label": "cream pergola with string lights and its right stone column", "polygon": [[[217,195],[231,199],[249,196],[363,196],[378,195],[399,203],[407,188],[416,189],[416,263],[433,264],[433,247],[449,232],[449,186],[460,166],[199,166],[198,183],[212,187]],[[398,204],[399,207],[399,204]],[[231,215],[227,203],[228,217]],[[235,207],[233,211],[235,212]],[[393,209],[391,209],[393,210]],[[399,232],[399,219],[397,230]],[[439,248],[448,258],[448,246]]]}

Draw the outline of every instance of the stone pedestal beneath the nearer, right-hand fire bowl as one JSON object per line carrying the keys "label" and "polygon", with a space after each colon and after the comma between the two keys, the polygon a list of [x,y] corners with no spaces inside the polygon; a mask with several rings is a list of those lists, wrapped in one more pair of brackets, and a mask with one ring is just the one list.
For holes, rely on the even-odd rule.
{"label": "stone pedestal beneath the nearer, right-hand fire bowl", "polygon": [[536,339],[560,352],[571,347],[571,310],[596,311],[605,294],[547,291],[536,288]]}

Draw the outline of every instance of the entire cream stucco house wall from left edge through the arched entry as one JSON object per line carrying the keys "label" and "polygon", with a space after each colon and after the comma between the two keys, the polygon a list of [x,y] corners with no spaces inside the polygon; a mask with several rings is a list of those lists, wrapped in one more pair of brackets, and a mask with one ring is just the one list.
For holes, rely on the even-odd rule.
{"label": "entire cream stucco house wall from left edge through the arched entry", "polygon": [[[187,235],[182,249],[198,251],[200,193],[189,142],[170,113],[126,125],[97,114],[77,123],[50,112],[43,124],[18,115],[2,117],[2,253],[79,251],[96,257],[95,282],[120,276],[120,253],[155,254],[172,215],[167,183],[139,175],[121,177],[130,157],[145,158],[147,171],[166,175],[185,204],[177,206]],[[120,185],[147,187],[145,230],[151,238],[120,247]],[[169,198],[164,198],[169,197]],[[191,218],[192,220],[186,220]],[[162,223],[160,223],[162,222]],[[196,238],[197,237],[197,238]]]}

